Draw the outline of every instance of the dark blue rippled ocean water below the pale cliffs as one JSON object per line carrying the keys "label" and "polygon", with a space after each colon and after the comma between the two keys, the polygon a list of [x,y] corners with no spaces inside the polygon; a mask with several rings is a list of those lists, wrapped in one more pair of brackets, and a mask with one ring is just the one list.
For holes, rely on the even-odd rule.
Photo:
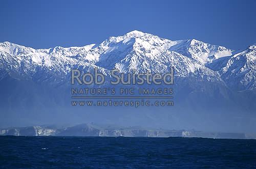
{"label": "dark blue rippled ocean water below the pale cliffs", "polygon": [[0,136],[0,168],[256,168],[256,140]]}

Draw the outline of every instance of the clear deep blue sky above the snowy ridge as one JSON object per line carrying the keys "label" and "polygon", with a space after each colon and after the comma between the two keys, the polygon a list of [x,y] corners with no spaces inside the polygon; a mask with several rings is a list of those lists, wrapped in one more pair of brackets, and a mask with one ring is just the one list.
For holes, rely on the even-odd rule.
{"label": "clear deep blue sky above the snowy ridge", "polygon": [[1,1],[0,42],[83,46],[133,30],[231,49],[256,43],[256,1]]}

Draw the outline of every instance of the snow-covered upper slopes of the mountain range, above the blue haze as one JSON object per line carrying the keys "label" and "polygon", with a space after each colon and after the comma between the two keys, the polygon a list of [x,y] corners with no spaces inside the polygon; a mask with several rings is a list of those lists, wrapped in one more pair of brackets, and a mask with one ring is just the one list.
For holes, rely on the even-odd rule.
{"label": "snow-covered upper slopes of the mountain range, above the blue haze", "polygon": [[[233,73],[232,78],[226,77],[228,72],[232,72],[231,68],[238,67],[232,61],[237,58],[238,54],[234,55],[225,67],[222,67],[224,65],[221,62],[215,64],[215,68],[206,67],[205,64],[218,63],[222,57],[231,55],[232,50],[195,39],[171,41],[155,35],[132,31],[124,36],[110,37],[100,44],[82,47],[58,46],[50,49],[33,49],[3,42],[0,43],[0,69],[3,72],[0,78],[9,74],[13,77],[21,76],[38,82],[55,81],[59,84],[69,80],[67,75],[70,74],[72,68],[87,71],[98,67],[99,71],[107,75],[113,68],[118,68],[124,73],[133,70],[137,73],[147,70],[165,73],[170,67],[174,67],[175,75],[178,77],[189,75],[210,81],[223,80],[232,89],[252,89],[255,87],[255,81],[253,81],[255,79],[255,49],[251,47],[250,50],[252,50],[248,60],[250,63],[239,65],[245,68],[249,66],[248,69],[251,70],[246,74],[248,77],[246,76],[241,83],[239,82],[242,80],[241,75],[238,73]],[[220,69],[222,69],[221,72],[216,71]]]}

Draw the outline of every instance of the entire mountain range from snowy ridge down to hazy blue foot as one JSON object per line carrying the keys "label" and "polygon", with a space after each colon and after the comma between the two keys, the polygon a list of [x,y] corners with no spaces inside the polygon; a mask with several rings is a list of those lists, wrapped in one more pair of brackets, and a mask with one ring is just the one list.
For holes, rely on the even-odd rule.
{"label": "entire mountain range from snowy ridge down to hazy blue foot", "polygon": [[[33,49],[0,43],[0,126],[97,122],[124,126],[256,132],[255,45],[242,51],[133,31],[82,47]],[[232,54],[233,52],[233,54]],[[105,75],[167,73],[174,106],[71,106],[71,69]],[[80,86],[85,88],[88,86]],[[121,88],[124,86],[115,86]]]}

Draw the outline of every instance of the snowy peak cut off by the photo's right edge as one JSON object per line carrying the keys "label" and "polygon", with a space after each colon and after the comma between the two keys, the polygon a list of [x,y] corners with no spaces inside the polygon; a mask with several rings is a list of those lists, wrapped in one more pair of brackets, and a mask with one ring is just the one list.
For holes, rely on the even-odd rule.
{"label": "snowy peak cut off by the photo's right edge", "polygon": [[227,86],[235,90],[256,88],[256,48],[255,45],[236,52],[230,57],[213,61],[206,65],[219,71]]}

